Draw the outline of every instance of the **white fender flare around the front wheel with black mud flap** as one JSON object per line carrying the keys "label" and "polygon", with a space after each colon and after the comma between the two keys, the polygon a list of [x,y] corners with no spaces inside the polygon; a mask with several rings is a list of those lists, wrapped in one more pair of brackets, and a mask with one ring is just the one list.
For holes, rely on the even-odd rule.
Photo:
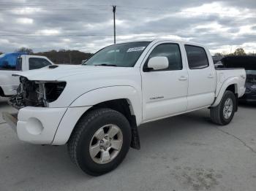
{"label": "white fender flare around the front wheel with black mud flap", "polygon": [[[62,117],[52,144],[61,145],[67,143],[76,123],[80,117],[91,108],[91,106],[104,101],[120,98],[125,98],[129,102],[128,104],[130,106],[131,114],[134,116],[134,120],[132,122],[132,135],[135,135],[135,139],[133,140],[131,146],[139,149],[140,142],[137,125],[142,121],[142,101],[140,92],[135,90],[135,88],[132,86],[100,87],[80,95],[78,98],[72,101],[72,104],[69,105],[67,112]],[[70,120],[70,118],[72,120]]]}

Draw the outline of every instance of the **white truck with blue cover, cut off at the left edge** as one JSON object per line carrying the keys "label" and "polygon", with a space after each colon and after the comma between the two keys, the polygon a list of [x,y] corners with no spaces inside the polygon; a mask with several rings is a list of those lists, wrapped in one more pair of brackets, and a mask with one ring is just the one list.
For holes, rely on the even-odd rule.
{"label": "white truck with blue cover, cut off at the left edge", "polygon": [[27,71],[40,69],[42,67],[52,65],[53,63],[45,56],[39,55],[20,55],[18,53],[10,53],[0,55],[0,96],[7,97],[15,95],[19,78],[12,76],[17,71]]}

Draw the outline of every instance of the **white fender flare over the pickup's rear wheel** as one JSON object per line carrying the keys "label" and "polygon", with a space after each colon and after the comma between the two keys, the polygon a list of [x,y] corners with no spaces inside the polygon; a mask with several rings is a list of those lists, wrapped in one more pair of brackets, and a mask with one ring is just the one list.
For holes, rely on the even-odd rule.
{"label": "white fender flare over the pickup's rear wheel", "polygon": [[225,93],[225,90],[227,90],[227,87],[230,85],[235,85],[235,93],[238,93],[238,77],[230,77],[223,82],[222,86],[219,88],[219,93],[217,94],[217,97],[215,98],[214,104],[211,106],[217,106],[220,101],[222,101],[222,96]]}

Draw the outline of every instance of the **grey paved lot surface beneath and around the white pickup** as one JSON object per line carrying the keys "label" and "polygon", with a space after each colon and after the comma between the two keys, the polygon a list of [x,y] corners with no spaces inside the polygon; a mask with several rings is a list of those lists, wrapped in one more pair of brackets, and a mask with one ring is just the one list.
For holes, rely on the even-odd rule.
{"label": "grey paved lot surface beneath and around the white pickup", "polygon": [[[12,111],[1,99],[0,112]],[[0,114],[1,116],[1,114]],[[225,127],[203,109],[139,128],[141,149],[130,149],[109,174],[83,174],[67,147],[19,141],[0,117],[0,190],[253,190],[256,187],[256,105],[239,106]]]}

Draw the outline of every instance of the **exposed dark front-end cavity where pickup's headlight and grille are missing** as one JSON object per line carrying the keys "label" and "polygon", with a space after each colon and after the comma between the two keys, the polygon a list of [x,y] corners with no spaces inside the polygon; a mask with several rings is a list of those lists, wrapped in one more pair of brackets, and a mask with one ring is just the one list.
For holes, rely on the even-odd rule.
{"label": "exposed dark front-end cavity where pickup's headlight and grille are missing", "polygon": [[59,98],[66,84],[59,81],[31,81],[21,76],[17,94],[10,98],[9,103],[16,109],[25,106],[48,107],[49,103]]}

